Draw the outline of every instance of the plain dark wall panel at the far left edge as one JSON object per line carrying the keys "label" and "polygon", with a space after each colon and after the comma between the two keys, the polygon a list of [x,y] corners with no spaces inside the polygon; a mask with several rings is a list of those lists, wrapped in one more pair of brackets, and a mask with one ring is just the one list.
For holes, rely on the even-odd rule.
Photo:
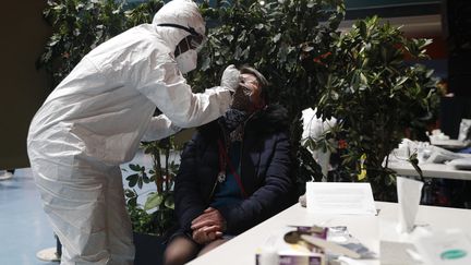
{"label": "plain dark wall panel at the far left edge", "polygon": [[50,35],[46,1],[3,1],[0,15],[0,169],[28,167],[29,121],[50,88],[35,62]]}

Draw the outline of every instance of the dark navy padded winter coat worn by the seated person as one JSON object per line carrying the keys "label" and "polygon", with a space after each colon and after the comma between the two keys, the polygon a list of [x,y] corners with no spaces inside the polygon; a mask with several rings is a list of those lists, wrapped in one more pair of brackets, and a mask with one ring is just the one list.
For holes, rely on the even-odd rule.
{"label": "dark navy padded winter coat worn by the seated person", "polygon": [[[228,234],[238,234],[292,205],[294,181],[285,108],[270,106],[253,115],[244,125],[241,179],[247,197],[239,206],[219,207]],[[186,145],[176,180],[179,225],[191,232],[191,221],[205,210],[214,195],[219,172],[220,124],[210,122]]]}

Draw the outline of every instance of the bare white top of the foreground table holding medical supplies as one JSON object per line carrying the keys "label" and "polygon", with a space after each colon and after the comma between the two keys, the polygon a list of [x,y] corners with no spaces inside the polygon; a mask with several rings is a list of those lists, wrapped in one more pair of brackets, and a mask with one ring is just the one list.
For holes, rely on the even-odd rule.
{"label": "bare white top of the foreground table holding medical supplies", "polygon": [[[369,249],[379,253],[379,240],[401,242],[404,239],[396,232],[398,205],[376,202],[376,207],[379,209],[378,216],[321,216],[309,213],[306,208],[295,204],[189,264],[255,264],[257,248],[263,246],[270,236],[288,225],[347,226],[351,234]],[[416,224],[426,224],[434,229],[457,227],[471,233],[469,209],[420,206],[416,220]],[[362,260],[362,264],[379,264],[379,261]]]}

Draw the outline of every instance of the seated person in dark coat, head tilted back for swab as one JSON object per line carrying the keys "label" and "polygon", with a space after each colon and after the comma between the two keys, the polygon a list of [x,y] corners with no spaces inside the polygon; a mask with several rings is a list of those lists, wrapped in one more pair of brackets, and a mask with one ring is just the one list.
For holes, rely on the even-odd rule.
{"label": "seated person in dark coat, head tilted back for swab", "polygon": [[287,111],[267,105],[268,83],[258,71],[240,71],[231,108],[201,127],[182,154],[174,188],[180,228],[167,265],[206,253],[297,200]]}

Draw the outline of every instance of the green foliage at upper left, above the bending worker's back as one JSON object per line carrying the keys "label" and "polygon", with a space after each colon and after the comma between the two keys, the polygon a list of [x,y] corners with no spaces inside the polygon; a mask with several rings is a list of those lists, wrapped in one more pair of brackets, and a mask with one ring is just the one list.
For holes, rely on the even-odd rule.
{"label": "green foliage at upper left, above the bending worker's back", "polygon": [[52,36],[36,67],[44,68],[56,87],[99,44],[125,29],[150,22],[161,0],[126,4],[124,0],[48,0],[44,16]]}

